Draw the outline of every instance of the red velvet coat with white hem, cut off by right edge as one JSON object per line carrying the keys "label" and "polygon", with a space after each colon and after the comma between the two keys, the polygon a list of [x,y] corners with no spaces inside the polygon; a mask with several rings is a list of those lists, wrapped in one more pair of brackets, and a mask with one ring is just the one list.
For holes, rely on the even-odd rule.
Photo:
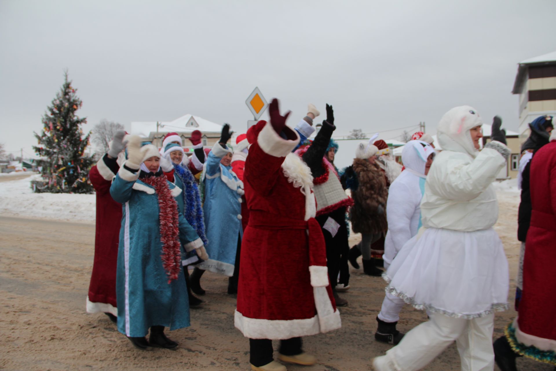
{"label": "red velvet coat with white hem, cut off by right edge", "polygon": [[532,212],[515,335],[525,345],[556,352],[556,141],[531,161]]}

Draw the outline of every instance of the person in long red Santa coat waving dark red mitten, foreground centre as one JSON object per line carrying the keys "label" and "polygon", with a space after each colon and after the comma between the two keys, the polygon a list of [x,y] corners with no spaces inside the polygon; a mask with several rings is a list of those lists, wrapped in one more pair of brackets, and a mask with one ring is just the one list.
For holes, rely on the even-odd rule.
{"label": "person in long red Santa coat waving dark red mitten, foreground centre", "polygon": [[278,101],[270,122],[249,128],[252,143],[245,161],[244,186],[249,225],[241,246],[235,327],[250,342],[253,370],[285,371],[273,360],[272,339],[279,339],[279,359],[310,365],[301,337],[341,327],[326,268],[326,248],[315,219],[312,175],[291,151],[299,135],[286,126]]}

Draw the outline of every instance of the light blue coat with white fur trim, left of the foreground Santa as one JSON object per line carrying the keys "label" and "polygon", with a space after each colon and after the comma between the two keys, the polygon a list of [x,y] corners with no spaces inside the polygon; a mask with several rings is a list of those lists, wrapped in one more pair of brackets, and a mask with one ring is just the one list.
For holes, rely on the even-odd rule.
{"label": "light blue coat with white fur trim, left of the foreground Santa", "polygon": [[209,152],[202,182],[205,184],[206,235],[205,246],[209,260],[198,265],[201,269],[231,277],[234,274],[237,241],[242,236],[241,196],[244,185],[231,166],[220,164],[229,150],[216,143]]}

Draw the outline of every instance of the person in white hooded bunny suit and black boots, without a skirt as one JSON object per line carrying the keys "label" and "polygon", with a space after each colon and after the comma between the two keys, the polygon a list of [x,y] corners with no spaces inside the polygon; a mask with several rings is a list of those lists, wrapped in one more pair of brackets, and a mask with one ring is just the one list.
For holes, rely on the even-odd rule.
{"label": "person in white hooded bunny suit and black boots, without a skirt", "polygon": [[[435,155],[434,147],[420,140],[409,141],[401,152],[405,169],[390,185],[386,203],[388,233],[384,243],[384,268],[390,266],[398,251],[421,227],[421,198],[425,192],[426,175]],[[396,330],[403,305],[403,299],[386,293],[382,309],[376,317],[376,340],[398,344],[404,337],[403,333]]]}

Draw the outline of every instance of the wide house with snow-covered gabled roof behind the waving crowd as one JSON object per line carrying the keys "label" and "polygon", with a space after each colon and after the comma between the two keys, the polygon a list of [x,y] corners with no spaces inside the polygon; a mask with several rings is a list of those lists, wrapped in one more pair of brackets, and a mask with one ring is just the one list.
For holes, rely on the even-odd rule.
{"label": "wide house with snow-covered gabled roof behind the waving crowd", "polygon": [[131,134],[140,136],[143,140],[152,142],[160,148],[167,133],[175,132],[181,137],[181,145],[185,152],[192,152],[188,138],[195,130],[202,133],[203,146],[212,147],[220,138],[222,126],[205,118],[184,115],[173,121],[136,121],[131,123]]}

